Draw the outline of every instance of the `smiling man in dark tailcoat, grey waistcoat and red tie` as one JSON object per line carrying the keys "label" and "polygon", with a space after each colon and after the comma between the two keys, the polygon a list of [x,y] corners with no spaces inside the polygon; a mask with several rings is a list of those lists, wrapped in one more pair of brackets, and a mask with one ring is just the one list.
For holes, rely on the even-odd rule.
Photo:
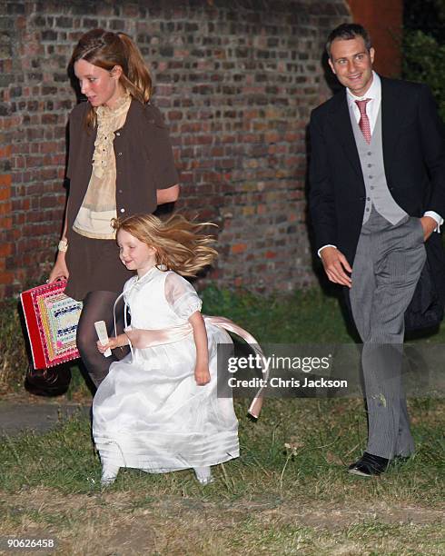
{"label": "smiling man in dark tailcoat, grey waistcoat and red tie", "polygon": [[368,477],[414,450],[401,386],[403,319],[424,242],[440,250],[445,144],[428,87],[376,74],[361,25],[340,25],[326,48],[346,90],[312,112],[310,208],[324,270],[348,290],[363,342],[368,446],[349,472]]}

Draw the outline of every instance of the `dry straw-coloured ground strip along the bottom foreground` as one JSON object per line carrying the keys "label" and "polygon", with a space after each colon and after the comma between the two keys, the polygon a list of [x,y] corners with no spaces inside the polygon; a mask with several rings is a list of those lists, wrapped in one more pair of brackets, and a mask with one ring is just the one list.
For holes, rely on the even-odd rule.
{"label": "dry straw-coloured ground strip along the bottom foreground", "polygon": [[[231,502],[175,496],[138,500],[134,492],[64,495],[39,488],[3,493],[0,500],[5,515],[0,537],[54,538],[56,553],[73,556],[247,556],[258,549],[270,554],[368,554],[360,541],[350,538],[351,526],[402,524],[408,534],[412,525],[443,523],[443,511],[420,506],[376,503],[363,508],[354,502],[281,501],[273,496]],[[404,554],[400,548],[395,540],[395,553]]]}

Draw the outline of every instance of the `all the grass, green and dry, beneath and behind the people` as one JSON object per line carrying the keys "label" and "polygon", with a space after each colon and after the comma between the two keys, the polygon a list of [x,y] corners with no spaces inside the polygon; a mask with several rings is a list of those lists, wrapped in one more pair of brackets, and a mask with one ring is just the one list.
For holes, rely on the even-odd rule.
{"label": "all the grass, green and dry, beneath and behind the people", "polygon": [[[352,341],[337,300],[316,291],[282,300],[209,288],[203,301],[262,342]],[[83,383],[74,369],[68,397],[91,400]],[[190,471],[124,470],[102,491],[81,414],[4,438],[0,538],[49,536],[60,554],[443,554],[442,399],[410,400],[415,456],[369,480],[345,472],[366,442],[361,400],[271,399],[256,423],[247,404],[235,401],[242,455],[205,488]]]}

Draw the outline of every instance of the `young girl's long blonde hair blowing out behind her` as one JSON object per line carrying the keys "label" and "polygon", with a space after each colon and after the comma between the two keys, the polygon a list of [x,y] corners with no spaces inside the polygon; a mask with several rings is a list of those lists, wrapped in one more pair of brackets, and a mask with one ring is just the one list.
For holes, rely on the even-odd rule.
{"label": "young girl's long blonde hair blowing out behind her", "polygon": [[202,233],[210,222],[197,223],[182,214],[173,214],[161,220],[153,214],[134,214],[112,221],[116,234],[120,230],[131,233],[139,241],[156,250],[156,266],[163,265],[183,276],[196,276],[205,266],[213,263],[218,252],[210,247],[212,235]]}

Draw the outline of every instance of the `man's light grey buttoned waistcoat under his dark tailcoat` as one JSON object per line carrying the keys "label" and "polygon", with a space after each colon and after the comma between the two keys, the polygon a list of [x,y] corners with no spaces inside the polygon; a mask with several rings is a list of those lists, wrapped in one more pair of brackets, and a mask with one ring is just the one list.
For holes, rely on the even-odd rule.
{"label": "man's light grey buttoned waistcoat under his dark tailcoat", "polygon": [[394,201],[386,183],[385,167],[383,164],[383,144],[381,140],[381,110],[379,110],[377,122],[372,133],[371,144],[366,143],[351,106],[350,115],[366,188],[366,203],[362,223],[368,221],[371,208],[374,207],[383,218],[392,224],[396,224],[407,213]]}

